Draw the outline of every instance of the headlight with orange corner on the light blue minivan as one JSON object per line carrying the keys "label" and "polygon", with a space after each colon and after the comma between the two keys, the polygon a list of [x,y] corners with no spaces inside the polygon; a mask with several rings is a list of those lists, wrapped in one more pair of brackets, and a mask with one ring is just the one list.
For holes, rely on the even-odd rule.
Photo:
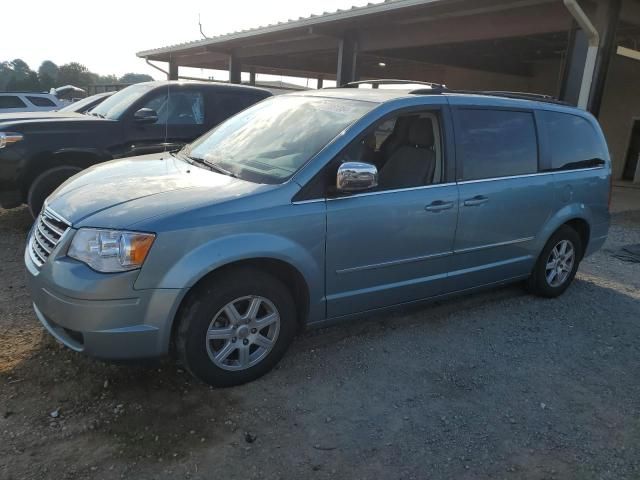
{"label": "headlight with orange corner on the light blue minivan", "polygon": [[67,255],[104,273],[142,267],[156,236],[152,233],[81,228]]}

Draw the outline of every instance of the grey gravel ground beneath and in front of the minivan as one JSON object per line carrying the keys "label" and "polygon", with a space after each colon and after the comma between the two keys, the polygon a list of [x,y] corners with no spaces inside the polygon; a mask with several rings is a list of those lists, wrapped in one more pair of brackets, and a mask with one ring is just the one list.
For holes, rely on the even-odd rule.
{"label": "grey gravel ground beneath and in front of the minivan", "polygon": [[518,286],[301,335],[213,390],[170,362],[110,365],[44,334],[26,210],[0,210],[2,479],[638,479],[640,211],[562,298]]}

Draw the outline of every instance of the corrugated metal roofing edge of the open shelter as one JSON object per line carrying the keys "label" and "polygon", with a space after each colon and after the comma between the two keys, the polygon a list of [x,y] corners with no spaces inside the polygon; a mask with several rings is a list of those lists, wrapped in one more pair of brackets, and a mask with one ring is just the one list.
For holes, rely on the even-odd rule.
{"label": "corrugated metal roofing edge of the open shelter", "polygon": [[211,38],[205,38],[202,40],[195,40],[193,42],[179,43],[176,45],[170,45],[167,47],[155,48],[152,50],[144,50],[137,53],[138,57],[148,57],[152,55],[158,55],[163,53],[175,52],[179,50],[188,50],[194,47],[201,47],[207,45],[215,45],[218,43],[228,42],[231,40],[239,40],[242,38],[248,38],[256,35],[264,35],[267,33],[274,33],[278,31],[285,31],[300,27],[309,27],[321,23],[333,22],[338,20],[346,20],[353,17],[360,17],[364,15],[370,15],[375,13],[381,13],[390,10],[398,10],[402,8],[408,8],[416,5],[427,5],[431,3],[444,2],[447,0],[383,0],[382,2],[368,3],[361,7],[352,6],[347,9],[338,9],[335,12],[324,12],[320,15],[309,15],[308,17],[300,17],[296,20],[288,20],[285,22],[278,22],[274,24],[264,25],[255,28],[249,28],[246,30],[239,30],[224,35],[218,35]]}

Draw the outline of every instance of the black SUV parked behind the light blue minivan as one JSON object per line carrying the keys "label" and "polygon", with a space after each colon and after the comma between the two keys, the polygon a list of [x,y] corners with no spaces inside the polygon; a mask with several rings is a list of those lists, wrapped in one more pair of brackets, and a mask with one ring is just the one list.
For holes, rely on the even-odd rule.
{"label": "black SUV parked behind the light blue minivan", "polygon": [[208,82],[147,82],[125,88],[89,114],[3,121],[0,206],[29,205],[36,216],[66,179],[96,163],[176,150],[267,90]]}

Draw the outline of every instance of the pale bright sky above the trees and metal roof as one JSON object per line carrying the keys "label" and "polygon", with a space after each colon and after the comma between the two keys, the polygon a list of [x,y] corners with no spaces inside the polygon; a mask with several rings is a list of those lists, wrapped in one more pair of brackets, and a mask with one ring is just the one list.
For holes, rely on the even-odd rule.
{"label": "pale bright sky above the trees and metal roof", "polygon": [[[0,61],[21,58],[33,70],[43,60],[75,61],[101,75],[135,72],[162,79],[136,52],[202,38],[198,14],[211,37],[368,1],[375,0],[110,0],[104,7],[86,0],[20,0],[12,2],[11,17],[25,21],[2,22]],[[184,70],[181,75],[225,79]]]}

